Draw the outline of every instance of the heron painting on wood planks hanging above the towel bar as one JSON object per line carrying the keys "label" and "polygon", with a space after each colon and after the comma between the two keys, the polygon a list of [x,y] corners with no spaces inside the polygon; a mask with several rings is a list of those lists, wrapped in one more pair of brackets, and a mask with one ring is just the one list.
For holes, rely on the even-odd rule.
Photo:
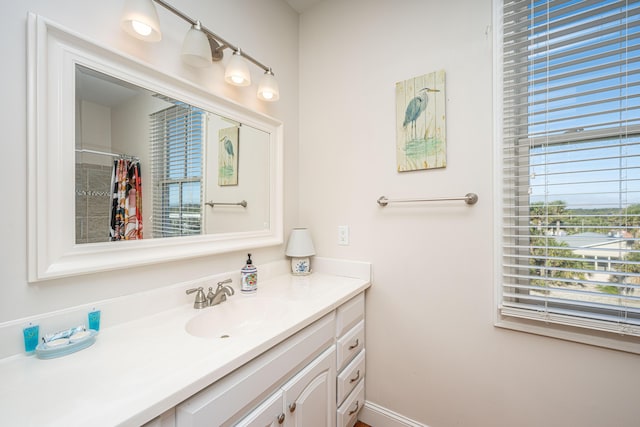
{"label": "heron painting on wood planks hanging above the towel bar", "polygon": [[396,83],[398,172],[447,166],[445,73]]}

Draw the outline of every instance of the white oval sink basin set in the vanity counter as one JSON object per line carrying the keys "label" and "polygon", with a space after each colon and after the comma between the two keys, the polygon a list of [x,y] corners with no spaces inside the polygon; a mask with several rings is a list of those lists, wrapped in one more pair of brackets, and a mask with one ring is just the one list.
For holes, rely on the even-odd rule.
{"label": "white oval sink basin set in the vanity counter", "polygon": [[185,330],[201,338],[237,337],[259,330],[265,322],[284,317],[287,311],[282,300],[236,294],[203,309],[187,322]]}

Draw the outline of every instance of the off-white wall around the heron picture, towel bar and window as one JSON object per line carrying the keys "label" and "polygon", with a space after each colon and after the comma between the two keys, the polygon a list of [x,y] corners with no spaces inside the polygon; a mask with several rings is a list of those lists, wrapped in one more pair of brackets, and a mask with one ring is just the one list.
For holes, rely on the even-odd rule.
{"label": "off-white wall around the heron picture, towel bar and window", "polygon": [[[491,19],[491,0],[301,15],[300,222],[322,256],[373,263],[367,400],[431,427],[638,425],[637,355],[493,326]],[[439,69],[447,167],[397,173],[394,85]],[[476,206],[376,204],[467,192]]]}

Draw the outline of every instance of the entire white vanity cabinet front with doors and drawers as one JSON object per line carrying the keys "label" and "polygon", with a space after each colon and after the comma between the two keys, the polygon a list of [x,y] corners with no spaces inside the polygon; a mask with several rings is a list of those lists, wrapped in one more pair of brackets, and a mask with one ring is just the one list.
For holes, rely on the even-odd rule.
{"label": "entire white vanity cabinet front with doors and drawers", "polygon": [[175,426],[352,426],[364,355],[363,292],[176,406]]}

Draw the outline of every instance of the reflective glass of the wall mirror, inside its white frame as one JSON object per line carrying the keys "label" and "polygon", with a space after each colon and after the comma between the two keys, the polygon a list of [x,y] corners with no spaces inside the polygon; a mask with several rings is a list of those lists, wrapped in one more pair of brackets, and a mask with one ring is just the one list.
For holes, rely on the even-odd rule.
{"label": "reflective glass of the wall mirror, inside its white frame", "polygon": [[76,65],[76,244],[265,230],[270,135]]}

